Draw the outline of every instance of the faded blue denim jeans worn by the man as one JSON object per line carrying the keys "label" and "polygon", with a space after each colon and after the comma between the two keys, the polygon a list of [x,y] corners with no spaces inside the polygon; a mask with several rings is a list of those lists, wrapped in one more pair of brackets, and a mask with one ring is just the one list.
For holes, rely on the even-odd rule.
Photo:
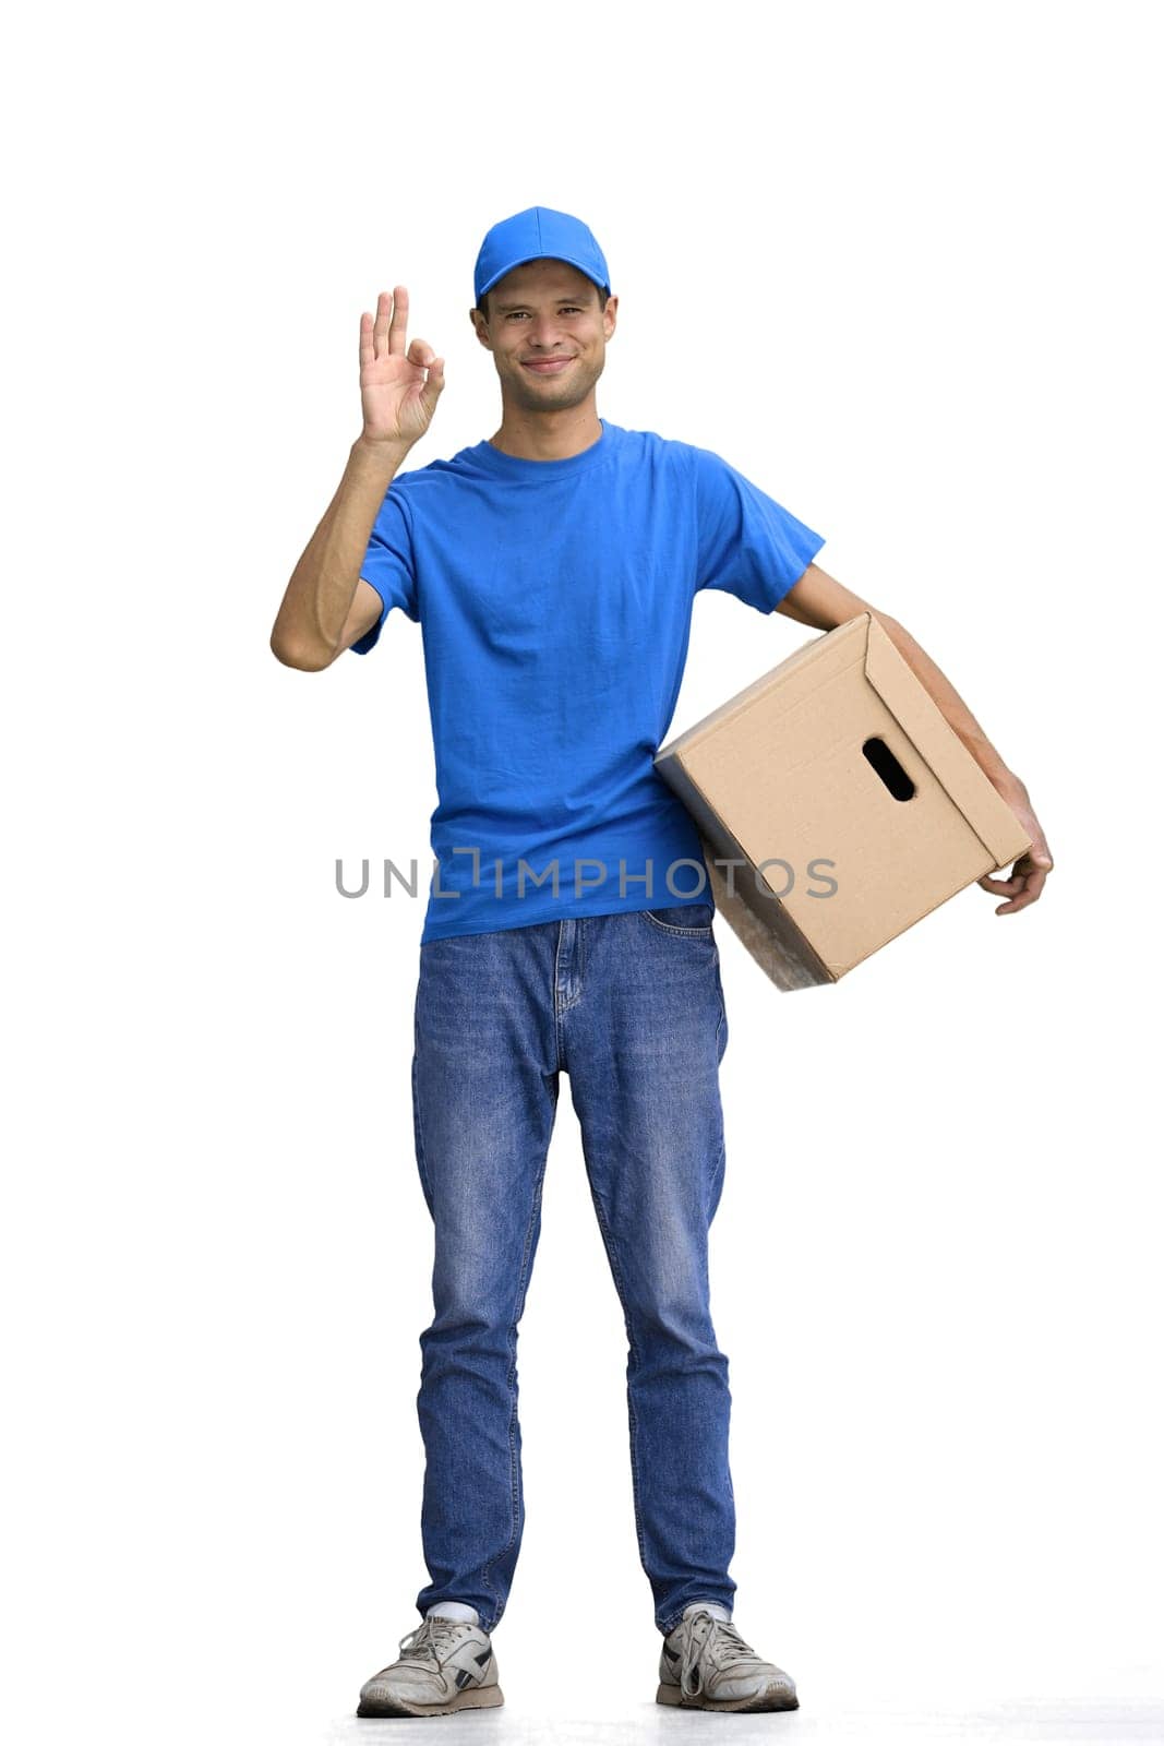
{"label": "faded blue denim jeans worn by the man", "polygon": [[421,946],[412,1093],[436,1229],[417,1397],[431,1577],[421,1613],[468,1601],[492,1631],[510,1596],[525,1523],[517,1329],[562,1072],[627,1322],[630,1470],[654,1622],[670,1631],[696,1599],[731,1610],[731,1393],[707,1266],[726,1044],[710,903]]}

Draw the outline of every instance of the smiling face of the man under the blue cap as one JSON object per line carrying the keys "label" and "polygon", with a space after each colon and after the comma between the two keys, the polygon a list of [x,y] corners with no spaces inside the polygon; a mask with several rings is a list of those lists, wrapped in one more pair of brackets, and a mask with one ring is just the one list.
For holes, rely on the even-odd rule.
{"label": "smiling face of the man under the blue cap", "polygon": [[489,321],[471,311],[503,396],[527,412],[557,412],[588,398],[606,367],[616,313],[618,299],[600,311],[599,286],[564,260],[529,260],[506,272],[489,293]]}

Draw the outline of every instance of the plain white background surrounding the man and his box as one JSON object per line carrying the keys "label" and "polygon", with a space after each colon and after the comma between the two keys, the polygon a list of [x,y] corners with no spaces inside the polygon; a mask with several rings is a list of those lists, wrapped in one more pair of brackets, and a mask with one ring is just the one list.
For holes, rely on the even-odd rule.
{"label": "plain white background surrounding the man and his box", "polygon": [[[65,5],[12,33],[21,1737],[365,1737],[358,1688],[417,1622],[422,901],[333,873],[429,868],[421,632],[394,613],[323,674],[267,637],[359,433],[359,313],[405,283],[447,356],[412,466],[492,435],[473,260],[531,204],[607,255],[602,416],[824,533],[1058,863],[1031,910],[970,887],[834,988],[778,993],[719,924],[736,1622],[803,1704],[733,1725],[1044,1704],[1119,1734],[1164,1704],[1154,14]],[[702,595],[674,732],[806,636]],[[508,1706],[469,1720],[654,1737],[625,1334],[567,1093]]]}

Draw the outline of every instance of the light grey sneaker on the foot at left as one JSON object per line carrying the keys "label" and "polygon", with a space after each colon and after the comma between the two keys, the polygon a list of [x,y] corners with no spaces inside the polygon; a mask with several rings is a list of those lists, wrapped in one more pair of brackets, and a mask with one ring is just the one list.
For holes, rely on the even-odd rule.
{"label": "light grey sneaker on the foot at left", "polygon": [[358,1716],[447,1716],[504,1704],[489,1633],[433,1613],[400,1639],[401,1655],[359,1690]]}

